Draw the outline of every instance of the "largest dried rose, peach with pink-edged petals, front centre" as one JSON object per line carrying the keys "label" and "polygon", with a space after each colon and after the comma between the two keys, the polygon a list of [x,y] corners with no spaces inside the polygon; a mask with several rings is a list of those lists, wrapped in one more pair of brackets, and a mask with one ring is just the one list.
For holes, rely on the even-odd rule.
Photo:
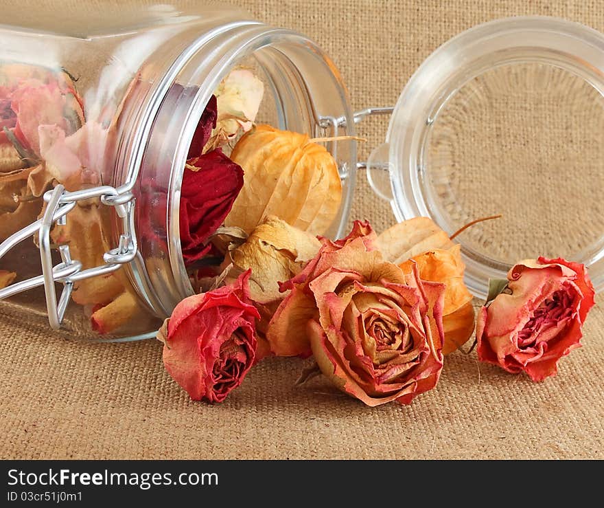
{"label": "largest dried rose, peach with pink-edged petals, front centre", "polygon": [[[410,402],[436,386],[443,368],[445,287],[408,275],[373,250],[375,233],[356,222],[323,247],[290,289],[269,331],[293,353],[310,346],[325,376],[368,406]],[[271,346],[275,344],[272,343]]]}

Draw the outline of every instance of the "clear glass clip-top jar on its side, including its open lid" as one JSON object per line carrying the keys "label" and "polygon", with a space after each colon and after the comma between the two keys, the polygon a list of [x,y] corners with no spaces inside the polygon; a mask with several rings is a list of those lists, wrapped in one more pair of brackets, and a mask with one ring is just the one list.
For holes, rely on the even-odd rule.
{"label": "clear glass clip-top jar on its side, including its open lid", "polygon": [[[367,168],[399,221],[426,215],[453,234],[504,215],[458,237],[476,296],[489,277],[539,254],[587,264],[604,289],[604,158],[596,151],[586,166],[562,153],[564,175],[580,172],[572,185],[563,166],[539,162],[551,122],[576,120],[560,133],[583,146],[604,119],[604,36],[587,27],[541,17],[480,25],[437,49],[395,108],[357,113],[316,44],[231,6],[82,13],[59,29],[28,21],[3,27],[0,43],[9,48],[0,57],[4,313],[26,309],[79,338],[133,340],[153,336],[194,293],[181,239],[183,174],[200,119],[235,68],[263,83],[257,122],[320,138],[334,157],[342,199],[321,234],[345,232],[356,170]],[[527,128],[533,103],[541,116]],[[386,143],[358,163],[355,124],[375,113],[393,113]],[[520,150],[523,140],[534,146]],[[561,184],[570,219],[559,213]],[[557,252],[552,236],[562,239]]]}

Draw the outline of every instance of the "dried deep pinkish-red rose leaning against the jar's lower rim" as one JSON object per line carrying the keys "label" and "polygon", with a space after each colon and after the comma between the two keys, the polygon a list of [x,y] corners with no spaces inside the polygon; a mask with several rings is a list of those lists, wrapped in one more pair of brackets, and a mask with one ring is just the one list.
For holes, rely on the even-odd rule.
{"label": "dried deep pinkish-red rose leaning against the jar's lower rim", "polygon": [[222,402],[255,360],[255,319],[249,272],[235,283],[180,302],[158,339],[163,364],[193,400]]}

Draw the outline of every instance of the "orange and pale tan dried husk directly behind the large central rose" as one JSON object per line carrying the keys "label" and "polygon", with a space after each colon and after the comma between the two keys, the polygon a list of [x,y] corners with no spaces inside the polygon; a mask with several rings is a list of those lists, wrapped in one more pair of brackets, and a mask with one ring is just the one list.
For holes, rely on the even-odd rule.
{"label": "orange and pale tan dried husk directly behind the large central rose", "polygon": [[463,282],[465,264],[461,245],[451,241],[432,219],[416,217],[380,234],[377,247],[406,274],[417,265],[422,280],[445,285],[443,354],[448,355],[465,344],[474,333],[474,307],[472,294]]}

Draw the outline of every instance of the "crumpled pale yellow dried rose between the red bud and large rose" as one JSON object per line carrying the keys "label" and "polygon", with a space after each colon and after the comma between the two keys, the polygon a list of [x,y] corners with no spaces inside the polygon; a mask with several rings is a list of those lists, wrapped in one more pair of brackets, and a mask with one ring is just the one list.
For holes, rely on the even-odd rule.
{"label": "crumpled pale yellow dried rose between the red bud and large rose", "polygon": [[225,259],[225,263],[232,263],[235,272],[252,271],[250,296],[261,316],[257,324],[258,360],[270,352],[280,353],[278,349],[270,351],[266,341],[268,323],[285,296],[279,291],[279,281],[290,280],[299,274],[320,247],[321,242],[312,234],[269,216]]}

